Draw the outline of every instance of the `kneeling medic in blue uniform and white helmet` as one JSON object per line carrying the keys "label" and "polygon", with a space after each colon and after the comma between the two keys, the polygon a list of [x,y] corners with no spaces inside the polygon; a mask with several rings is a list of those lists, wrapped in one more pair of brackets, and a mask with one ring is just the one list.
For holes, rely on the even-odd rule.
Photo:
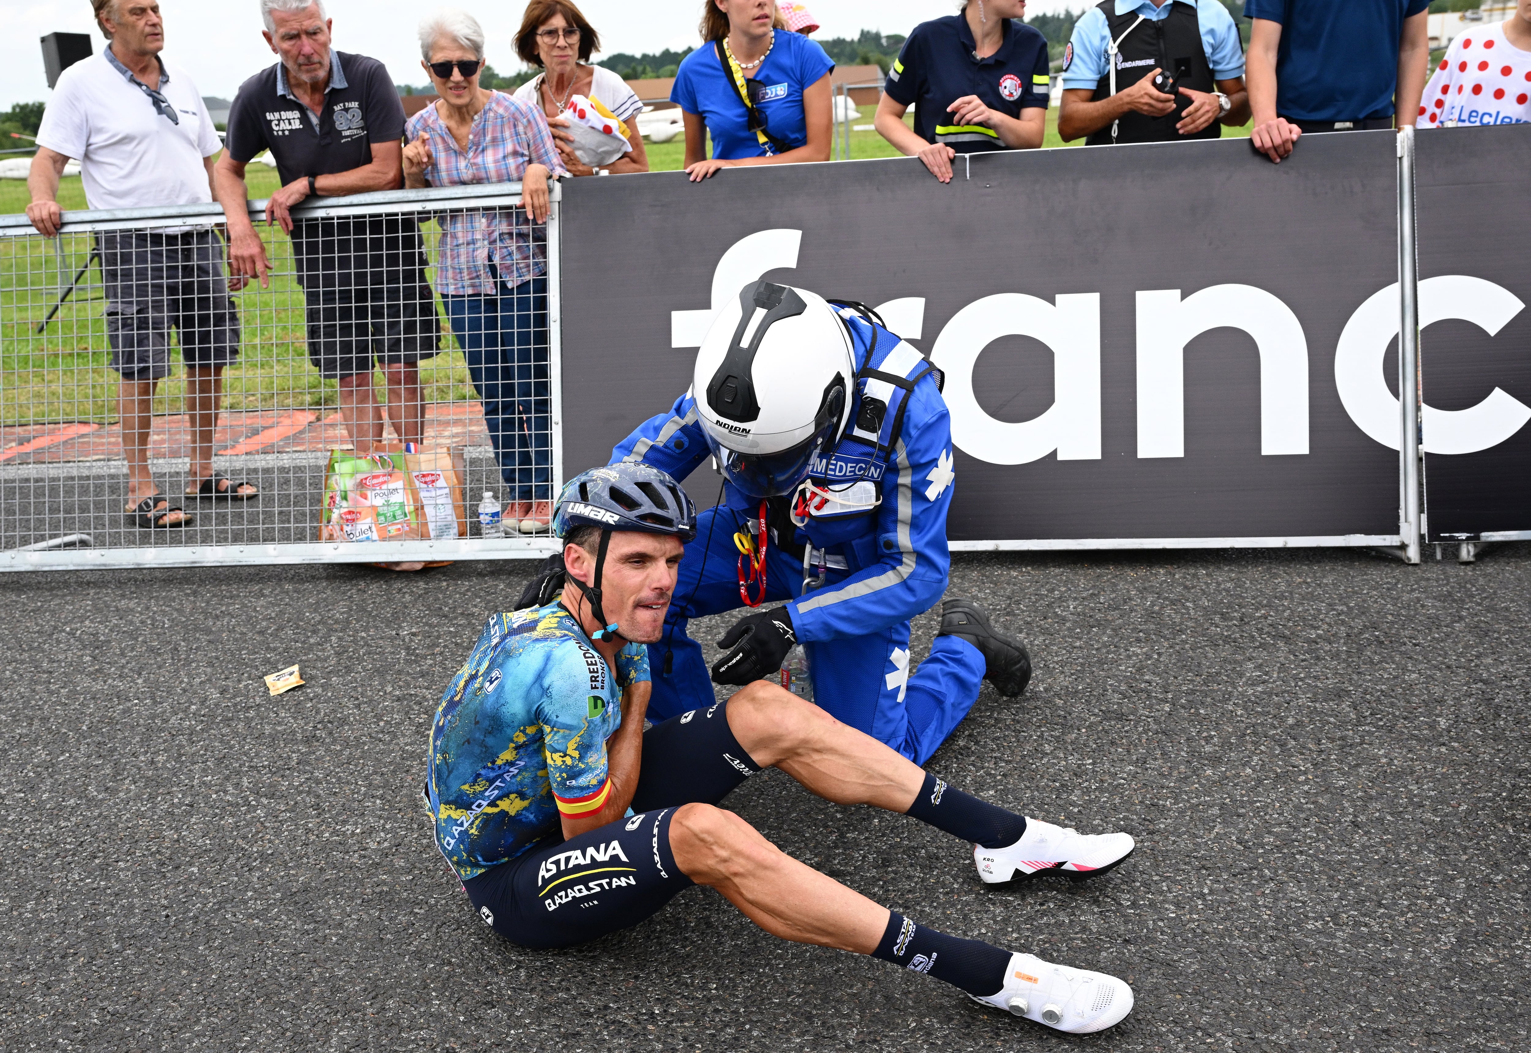
{"label": "kneeling medic in blue uniform and white helmet", "polygon": [[[664,719],[712,698],[690,618],[747,614],[720,641],[724,684],[776,675],[804,644],[813,699],[923,764],[987,676],[1018,695],[1026,650],[971,600],[911,673],[909,618],[946,591],[954,450],[940,373],[860,305],[761,282],[713,323],[692,390],[612,450],[684,479],[717,456],[724,497],[686,546],[666,635],[649,644]],[[700,401],[698,401],[700,396]]]}

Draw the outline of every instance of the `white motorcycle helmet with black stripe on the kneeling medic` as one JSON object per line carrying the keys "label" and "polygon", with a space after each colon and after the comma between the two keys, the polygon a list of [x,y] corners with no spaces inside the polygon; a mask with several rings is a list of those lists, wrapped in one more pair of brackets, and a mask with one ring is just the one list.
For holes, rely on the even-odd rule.
{"label": "white motorcycle helmet with black stripe on the kneeling medic", "polygon": [[850,334],[824,297],[756,282],[713,320],[690,393],[723,473],[773,497],[841,438],[854,377]]}

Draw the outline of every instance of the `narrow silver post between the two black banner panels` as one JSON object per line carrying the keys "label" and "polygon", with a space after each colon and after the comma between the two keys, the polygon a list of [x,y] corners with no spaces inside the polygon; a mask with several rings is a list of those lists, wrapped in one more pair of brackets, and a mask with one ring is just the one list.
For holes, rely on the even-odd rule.
{"label": "narrow silver post between the two black banner panels", "polygon": [[1415,130],[1398,133],[1398,445],[1404,562],[1419,562],[1419,260],[1415,248]]}

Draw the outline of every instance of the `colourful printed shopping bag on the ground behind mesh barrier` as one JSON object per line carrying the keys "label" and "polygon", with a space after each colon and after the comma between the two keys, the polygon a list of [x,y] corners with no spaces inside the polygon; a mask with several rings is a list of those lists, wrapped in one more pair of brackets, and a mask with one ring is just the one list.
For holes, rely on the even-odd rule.
{"label": "colourful printed shopping bag on the ground behind mesh barrier", "polygon": [[427,536],[403,453],[334,450],[325,471],[322,542],[400,542]]}

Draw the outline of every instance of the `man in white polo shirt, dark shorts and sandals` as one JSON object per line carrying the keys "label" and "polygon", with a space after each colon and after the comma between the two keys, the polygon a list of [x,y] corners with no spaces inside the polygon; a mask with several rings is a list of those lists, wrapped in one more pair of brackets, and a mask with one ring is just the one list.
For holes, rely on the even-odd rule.
{"label": "man in white polo shirt, dark shorts and sandals", "polygon": [[[92,0],[110,46],[58,78],[37,133],[26,214],[44,237],[63,225],[58,181],[80,159],[92,208],[202,205],[213,200],[222,148],[190,75],[159,58],[165,46],[156,0]],[[107,231],[96,237],[107,294],[107,340],[118,383],[127,511],[139,526],[191,522],[159,496],[149,471],[152,401],[170,373],[170,329],[181,343],[191,418],[188,496],[242,500],[256,487],[213,470],[213,432],[224,367],[239,357],[239,314],[224,277],[224,245],[211,230]],[[239,286],[236,286],[239,288]]]}

